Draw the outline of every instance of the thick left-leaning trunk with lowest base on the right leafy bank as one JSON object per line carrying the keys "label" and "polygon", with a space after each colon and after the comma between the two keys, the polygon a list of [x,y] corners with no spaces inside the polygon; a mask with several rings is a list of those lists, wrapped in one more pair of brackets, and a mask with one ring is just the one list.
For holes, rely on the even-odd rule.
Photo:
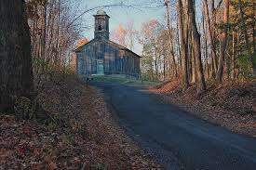
{"label": "thick left-leaning trunk with lowest base on the right leafy bank", "polygon": [[188,16],[190,18],[189,25],[192,29],[192,37],[193,37],[193,50],[195,52],[195,66],[196,66],[196,72],[197,72],[197,80],[198,80],[198,90],[200,92],[203,92],[206,90],[206,82],[205,82],[205,76],[203,73],[203,65],[201,61],[201,42],[200,42],[200,34],[197,31],[196,28],[196,22],[195,22],[195,2],[194,0],[188,0]]}

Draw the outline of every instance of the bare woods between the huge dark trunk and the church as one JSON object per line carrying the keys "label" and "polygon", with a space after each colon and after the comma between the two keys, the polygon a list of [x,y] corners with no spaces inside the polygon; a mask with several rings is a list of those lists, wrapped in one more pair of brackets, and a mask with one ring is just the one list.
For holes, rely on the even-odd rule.
{"label": "bare woods between the huge dark trunk and the church", "polygon": [[[45,67],[69,64],[83,22],[75,20],[81,1],[28,0],[26,9],[32,39],[32,56]],[[80,21],[80,22],[79,22]],[[35,69],[35,68],[34,68]]]}

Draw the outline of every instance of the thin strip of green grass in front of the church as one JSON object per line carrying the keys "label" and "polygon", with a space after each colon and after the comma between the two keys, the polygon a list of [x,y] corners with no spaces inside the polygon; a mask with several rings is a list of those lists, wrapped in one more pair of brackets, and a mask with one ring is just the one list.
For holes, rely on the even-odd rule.
{"label": "thin strip of green grass in front of the church", "polygon": [[125,75],[94,75],[92,76],[93,82],[109,82],[119,83],[122,85],[142,85],[153,86],[158,85],[159,82],[144,81],[141,79],[127,78]]}

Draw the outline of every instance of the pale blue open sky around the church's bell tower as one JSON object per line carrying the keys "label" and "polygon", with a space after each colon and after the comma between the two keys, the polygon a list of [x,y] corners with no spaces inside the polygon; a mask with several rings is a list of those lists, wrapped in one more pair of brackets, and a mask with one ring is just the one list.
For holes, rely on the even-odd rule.
{"label": "pale blue open sky around the church's bell tower", "polygon": [[[126,0],[125,4],[128,5],[138,5],[145,4],[144,2],[148,2],[148,0]],[[88,9],[92,7],[99,7],[104,5],[113,5],[120,4],[120,0],[84,0],[83,5],[80,7],[83,9]],[[126,25],[128,20],[132,20],[134,22],[134,26],[136,30],[141,29],[141,24],[147,20],[157,19],[163,20],[164,16],[164,8],[163,7],[154,7],[154,8],[141,8],[135,6],[133,7],[108,7],[104,8],[106,13],[110,16],[110,32],[114,31],[114,29],[118,26],[118,24]],[[88,37],[90,40],[93,39],[94,36],[94,15],[97,12],[91,11],[83,16],[83,20],[86,20],[87,24],[91,27],[86,29],[83,32],[83,36]],[[138,43],[135,44],[134,52],[141,55],[141,45]]]}

